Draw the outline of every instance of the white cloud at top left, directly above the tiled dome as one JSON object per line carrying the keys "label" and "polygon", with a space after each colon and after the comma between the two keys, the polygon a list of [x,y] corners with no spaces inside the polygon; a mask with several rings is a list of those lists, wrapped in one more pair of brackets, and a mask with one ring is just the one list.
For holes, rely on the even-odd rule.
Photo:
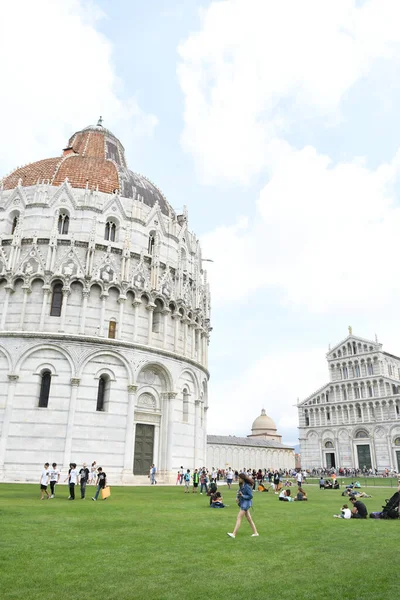
{"label": "white cloud at top left, directly above the tiled dome", "polygon": [[130,135],[153,130],[156,118],[134,98],[123,99],[112,46],[96,30],[103,16],[80,0],[0,4],[2,175],[59,155],[69,136],[99,115],[106,127]]}

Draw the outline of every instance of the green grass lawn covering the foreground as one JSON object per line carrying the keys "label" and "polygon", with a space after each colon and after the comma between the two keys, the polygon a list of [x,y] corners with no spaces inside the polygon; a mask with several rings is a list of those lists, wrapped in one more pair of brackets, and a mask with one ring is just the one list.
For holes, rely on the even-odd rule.
{"label": "green grass lawn covering the foreground", "polygon": [[[399,521],[333,519],[340,491],[308,485],[309,502],[255,493],[236,539],[235,493],[225,509],[182,487],[115,487],[107,501],[40,501],[38,485],[0,485],[2,600],[186,598],[392,600]],[[390,493],[388,493],[390,492]],[[392,490],[364,502],[379,510]],[[79,496],[79,493],[78,493]]]}

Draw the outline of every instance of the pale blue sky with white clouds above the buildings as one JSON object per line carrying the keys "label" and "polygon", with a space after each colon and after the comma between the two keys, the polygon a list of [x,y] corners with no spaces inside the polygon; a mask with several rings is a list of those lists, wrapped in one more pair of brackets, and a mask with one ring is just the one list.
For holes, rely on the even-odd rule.
{"label": "pale blue sky with white clouds above the buildings", "polygon": [[353,333],[400,354],[398,0],[0,3],[0,174],[102,115],[212,294],[208,433],[297,399]]}

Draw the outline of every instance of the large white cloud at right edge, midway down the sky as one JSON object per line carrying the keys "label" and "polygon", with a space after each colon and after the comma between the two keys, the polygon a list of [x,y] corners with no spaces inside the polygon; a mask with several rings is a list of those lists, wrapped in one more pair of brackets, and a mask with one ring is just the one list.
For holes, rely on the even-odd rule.
{"label": "large white cloud at right edge, midway down the sky", "polygon": [[359,160],[333,165],[311,147],[279,143],[269,152],[270,179],[254,223],[221,227],[202,240],[215,260],[213,304],[269,286],[284,303],[309,312],[366,313],[390,305],[400,292],[394,270],[400,153],[368,170]]}

